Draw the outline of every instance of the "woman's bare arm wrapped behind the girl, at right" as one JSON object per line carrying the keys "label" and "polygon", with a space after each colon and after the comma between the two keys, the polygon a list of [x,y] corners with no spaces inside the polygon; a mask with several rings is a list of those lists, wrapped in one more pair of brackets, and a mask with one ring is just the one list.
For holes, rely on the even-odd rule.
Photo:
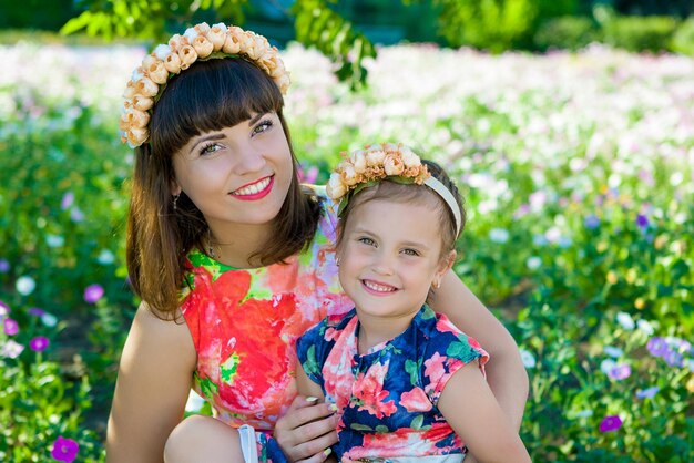
{"label": "woman's bare arm wrapped behind the girl, at right", "polygon": [[443,277],[431,308],[445,313],[489,352],[487,382],[513,429],[519,430],[528,400],[528,373],[509,331],[452,270]]}

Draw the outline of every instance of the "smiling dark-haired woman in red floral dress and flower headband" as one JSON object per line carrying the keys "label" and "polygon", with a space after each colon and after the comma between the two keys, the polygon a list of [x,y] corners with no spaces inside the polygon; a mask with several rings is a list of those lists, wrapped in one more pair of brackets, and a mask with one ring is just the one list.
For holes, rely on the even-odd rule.
{"label": "smiling dark-haired woman in red floral dress and flower headband", "polygon": [[[337,440],[329,404],[296,391],[296,339],[353,305],[337,281],[335,217],[297,178],[288,82],[265,38],[203,23],[156,47],[127,84],[126,260],[142,303],[109,462],[243,461],[242,439],[262,461],[318,462]],[[490,383],[518,426],[527,375],[512,338],[451,271],[432,308],[494,356]],[[215,418],[183,420],[191,387]]]}

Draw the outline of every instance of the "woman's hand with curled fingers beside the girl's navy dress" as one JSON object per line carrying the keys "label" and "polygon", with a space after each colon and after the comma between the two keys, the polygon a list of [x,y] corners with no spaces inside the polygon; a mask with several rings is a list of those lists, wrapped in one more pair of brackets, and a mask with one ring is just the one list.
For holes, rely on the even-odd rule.
{"label": "woman's hand with curled fingers beside the girl's navy dress", "polygon": [[298,395],[277,420],[274,438],[290,462],[323,462],[337,442],[336,426],[334,405]]}

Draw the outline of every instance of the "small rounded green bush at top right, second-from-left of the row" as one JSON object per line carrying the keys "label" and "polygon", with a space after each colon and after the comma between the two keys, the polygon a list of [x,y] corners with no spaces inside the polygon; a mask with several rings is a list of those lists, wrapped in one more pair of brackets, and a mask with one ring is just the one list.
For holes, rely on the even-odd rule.
{"label": "small rounded green bush at top right, second-from-left of the row", "polygon": [[533,42],[540,50],[579,50],[598,40],[598,28],[590,18],[562,17],[540,25]]}

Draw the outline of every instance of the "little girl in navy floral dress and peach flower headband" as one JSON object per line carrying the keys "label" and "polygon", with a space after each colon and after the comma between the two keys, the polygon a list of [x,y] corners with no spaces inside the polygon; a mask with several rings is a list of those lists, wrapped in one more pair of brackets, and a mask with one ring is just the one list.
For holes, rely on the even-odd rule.
{"label": "little girl in navy floral dress and peach flower headband", "polygon": [[460,462],[530,457],[483,379],[489,356],[426,300],[465,226],[456,186],[402,145],[357,151],[333,174],[339,280],[355,302],[297,341],[300,394],[336,404],[337,459]]}

